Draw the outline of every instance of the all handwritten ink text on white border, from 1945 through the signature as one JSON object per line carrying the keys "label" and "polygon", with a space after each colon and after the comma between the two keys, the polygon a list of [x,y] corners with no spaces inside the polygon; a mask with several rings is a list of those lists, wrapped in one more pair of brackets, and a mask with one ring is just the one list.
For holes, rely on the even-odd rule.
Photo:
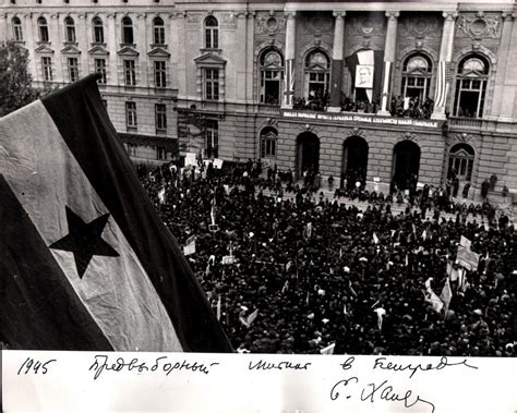
{"label": "all handwritten ink text on white border, from 1945 through the signature", "polygon": [[[187,360],[170,357],[167,355],[154,357],[151,361],[140,360],[139,357],[123,357],[120,355],[111,356],[105,354],[94,355],[93,361],[88,364],[88,373],[92,374],[93,380],[97,380],[105,374],[146,374],[156,373],[169,376],[171,374],[180,374],[183,372],[208,375],[215,369],[224,368],[219,362],[200,362],[195,360]],[[341,357],[335,357],[342,361]],[[247,361],[245,371],[251,375],[264,375],[275,372],[293,372],[305,374],[310,372],[312,376],[314,372],[314,363],[294,363],[293,361],[275,361],[263,357],[258,361]],[[370,364],[372,363],[372,364]],[[26,357],[20,365],[17,375],[47,375],[51,373],[53,367],[59,364],[57,359],[37,360],[35,357]],[[429,396],[420,394],[414,390],[418,386],[418,376],[429,372],[441,372],[444,369],[478,369],[477,366],[470,364],[467,359],[462,361],[450,361],[446,356],[440,357],[435,363],[400,363],[400,359],[389,356],[377,356],[369,359],[369,366],[364,368],[364,362],[361,366],[356,366],[356,357],[348,356],[341,363],[337,363],[339,374],[346,372],[345,376],[339,379],[330,380],[332,386],[328,389],[328,398],[332,402],[346,402],[347,400],[376,403],[392,402],[398,403],[405,409],[418,406],[429,410],[433,413],[436,410],[435,403]],[[242,366],[242,364],[239,364]],[[340,368],[339,368],[340,367]],[[365,374],[369,372],[370,374]],[[385,374],[382,378],[372,379],[375,373],[388,373],[390,377],[386,378]],[[400,382],[406,380],[407,385]],[[420,389],[422,387],[420,386]],[[426,409],[424,408],[426,406]]]}

